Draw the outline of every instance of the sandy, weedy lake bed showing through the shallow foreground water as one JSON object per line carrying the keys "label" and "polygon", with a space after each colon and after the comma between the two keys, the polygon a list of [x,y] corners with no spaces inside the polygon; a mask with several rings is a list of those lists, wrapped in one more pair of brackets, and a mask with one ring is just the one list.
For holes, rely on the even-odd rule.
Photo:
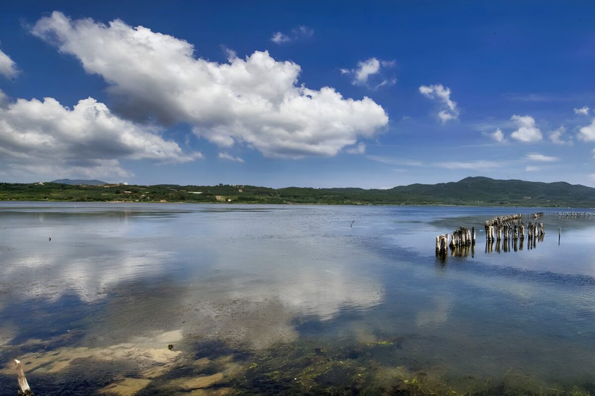
{"label": "sandy, weedy lake bed showing through the shallow foreground water", "polygon": [[[183,350],[170,350],[167,341],[176,341]],[[72,395],[130,396],[595,394],[593,382],[553,387],[511,372],[500,379],[446,378],[439,369],[383,365],[373,359],[394,353],[401,341],[351,346],[302,341],[253,351],[201,338],[181,340],[174,331],[104,348],[44,348],[21,359],[37,394],[56,394],[58,389]],[[11,376],[16,384],[12,367],[7,365],[1,375]]]}

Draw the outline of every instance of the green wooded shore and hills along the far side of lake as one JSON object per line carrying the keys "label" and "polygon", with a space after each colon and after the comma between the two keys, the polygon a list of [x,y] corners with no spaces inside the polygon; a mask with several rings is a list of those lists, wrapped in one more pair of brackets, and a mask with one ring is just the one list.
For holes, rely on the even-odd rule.
{"label": "green wooded shore and hills along the far side of lake", "polygon": [[232,202],[328,205],[503,205],[594,207],[595,188],[565,182],[465,178],[390,189],[268,188],[248,185],[69,185],[0,183],[2,201]]}

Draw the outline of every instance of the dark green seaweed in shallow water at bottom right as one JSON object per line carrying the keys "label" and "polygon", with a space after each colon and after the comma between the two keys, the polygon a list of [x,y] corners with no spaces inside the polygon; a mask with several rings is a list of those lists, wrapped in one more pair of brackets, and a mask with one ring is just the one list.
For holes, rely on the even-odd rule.
{"label": "dark green seaweed in shallow water at bottom right", "polygon": [[397,347],[399,340],[321,348],[310,341],[280,344],[246,362],[246,374],[232,384],[237,395],[414,395],[414,396],[584,396],[593,384],[552,388],[510,372],[502,379],[449,379],[430,370],[384,366],[372,359],[376,348]]}

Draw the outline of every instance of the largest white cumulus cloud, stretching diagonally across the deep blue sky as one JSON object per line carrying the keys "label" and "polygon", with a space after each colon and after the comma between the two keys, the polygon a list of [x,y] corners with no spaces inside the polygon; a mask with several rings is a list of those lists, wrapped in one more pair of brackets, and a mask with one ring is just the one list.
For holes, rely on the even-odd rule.
{"label": "largest white cumulus cloud, stretching diagonally across the deep blue sky", "polygon": [[123,115],[187,122],[220,147],[243,142],[268,157],[334,156],[389,121],[368,97],[298,84],[300,66],[267,51],[220,64],[195,58],[190,43],[146,27],[70,20],[57,11],[32,33],[101,75]]}

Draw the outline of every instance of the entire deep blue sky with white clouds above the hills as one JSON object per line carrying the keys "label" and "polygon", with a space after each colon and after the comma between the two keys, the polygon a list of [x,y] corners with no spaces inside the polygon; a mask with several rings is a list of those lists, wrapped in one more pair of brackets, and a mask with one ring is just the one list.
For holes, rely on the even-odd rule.
{"label": "entire deep blue sky with white clouds above the hills", "polygon": [[588,2],[0,11],[0,180],[595,186]]}

